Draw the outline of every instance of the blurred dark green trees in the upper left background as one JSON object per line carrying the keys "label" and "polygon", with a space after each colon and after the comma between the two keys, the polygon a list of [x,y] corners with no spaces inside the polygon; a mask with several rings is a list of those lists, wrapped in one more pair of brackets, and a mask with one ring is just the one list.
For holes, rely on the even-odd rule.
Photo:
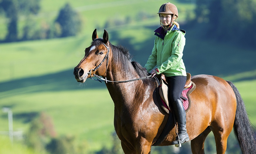
{"label": "blurred dark green trees in the upper left background", "polygon": [[[40,0],[0,0],[0,14],[8,19],[7,34],[3,42],[75,36],[81,27],[79,14],[67,3],[60,9],[53,23],[41,24],[31,18],[39,13]],[[23,34],[18,38],[19,16],[26,17]]]}

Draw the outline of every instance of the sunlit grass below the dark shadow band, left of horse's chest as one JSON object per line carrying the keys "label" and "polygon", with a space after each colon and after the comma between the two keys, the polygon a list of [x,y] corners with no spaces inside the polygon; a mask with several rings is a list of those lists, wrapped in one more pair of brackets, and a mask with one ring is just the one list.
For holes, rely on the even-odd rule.
{"label": "sunlit grass below the dark shadow band, left of horse's chest", "polygon": [[[30,120],[44,112],[58,135],[72,135],[92,149],[111,145],[106,141],[114,131],[114,104],[106,89],[21,94],[2,98],[3,106],[11,107],[16,131],[28,130]],[[7,114],[0,115],[1,130],[8,131]]]}

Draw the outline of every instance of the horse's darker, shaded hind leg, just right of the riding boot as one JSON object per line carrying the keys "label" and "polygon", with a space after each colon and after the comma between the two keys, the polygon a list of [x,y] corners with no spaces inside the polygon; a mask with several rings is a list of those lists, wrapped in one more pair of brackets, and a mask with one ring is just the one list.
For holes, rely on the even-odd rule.
{"label": "horse's darker, shaded hind leg, just right of the riding boot", "polygon": [[205,153],[205,139],[211,132],[211,129],[207,127],[200,135],[191,140],[192,153],[204,154]]}

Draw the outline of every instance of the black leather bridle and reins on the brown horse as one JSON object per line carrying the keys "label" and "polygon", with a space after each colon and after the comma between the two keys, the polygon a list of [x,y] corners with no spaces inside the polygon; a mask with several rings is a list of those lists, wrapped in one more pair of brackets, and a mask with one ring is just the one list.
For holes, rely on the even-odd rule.
{"label": "black leather bridle and reins on the brown horse", "polygon": [[[95,76],[96,78],[99,78],[99,79],[101,79],[101,80],[99,80],[99,79],[97,79],[97,80],[93,79],[93,80],[99,81],[99,82],[105,81],[106,83],[107,83],[107,82],[124,83],[124,82],[131,82],[131,81],[142,80],[142,79],[145,79],[145,78],[150,78],[150,77],[152,76],[152,75],[150,75],[150,76],[146,76],[146,77],[143,77],[143,78],[136,78],[136,79],[125,80],[125,81],[109,81],[109,80],[107,80],[107,77],[106,77],[106,78],[102,78],[102,77],[98,76],[97,74],[94,74],[95,71],[102,65],[102,63],[103,63],[106,59],[107,59],[107,62],[106,62],[106,71],[105,71],[105,73],[107,72],[107,67],[108,67],[108,63],[109,63],[109,48],[110,48],[110,45],[109,45],[109,47],[107,47],[107,45],[106,45],[105,43],[103,43],[103,45],[107,48],[108,51],[107,51],[106,55],[104,56],[103,60],[101,61],[101,63],[99,63],[98,66],[96,66],[94,69],[91,69],[91,70],[87,73],[88,76],[89,76],[89,78],[93,79],[92,77]],[[104,74],[105,74],[105,73],[104,73]]]}

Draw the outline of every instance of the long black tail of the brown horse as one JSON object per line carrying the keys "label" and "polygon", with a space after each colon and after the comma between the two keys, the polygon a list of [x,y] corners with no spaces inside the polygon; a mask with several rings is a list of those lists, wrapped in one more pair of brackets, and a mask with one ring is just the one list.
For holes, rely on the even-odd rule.
{"label": "long black tail of the brown horse", "polygon": [[255,141],[255,133],[252,129],[251,122],[248,118],[245,103],[242,100],[242,97],[235,87],[235,85],[227,81],[235,92],[236,100],[237,100],[237,109],[235,115],[235,123],[234,123],[234,133],[244,154],[256,154],[256,141]]}

